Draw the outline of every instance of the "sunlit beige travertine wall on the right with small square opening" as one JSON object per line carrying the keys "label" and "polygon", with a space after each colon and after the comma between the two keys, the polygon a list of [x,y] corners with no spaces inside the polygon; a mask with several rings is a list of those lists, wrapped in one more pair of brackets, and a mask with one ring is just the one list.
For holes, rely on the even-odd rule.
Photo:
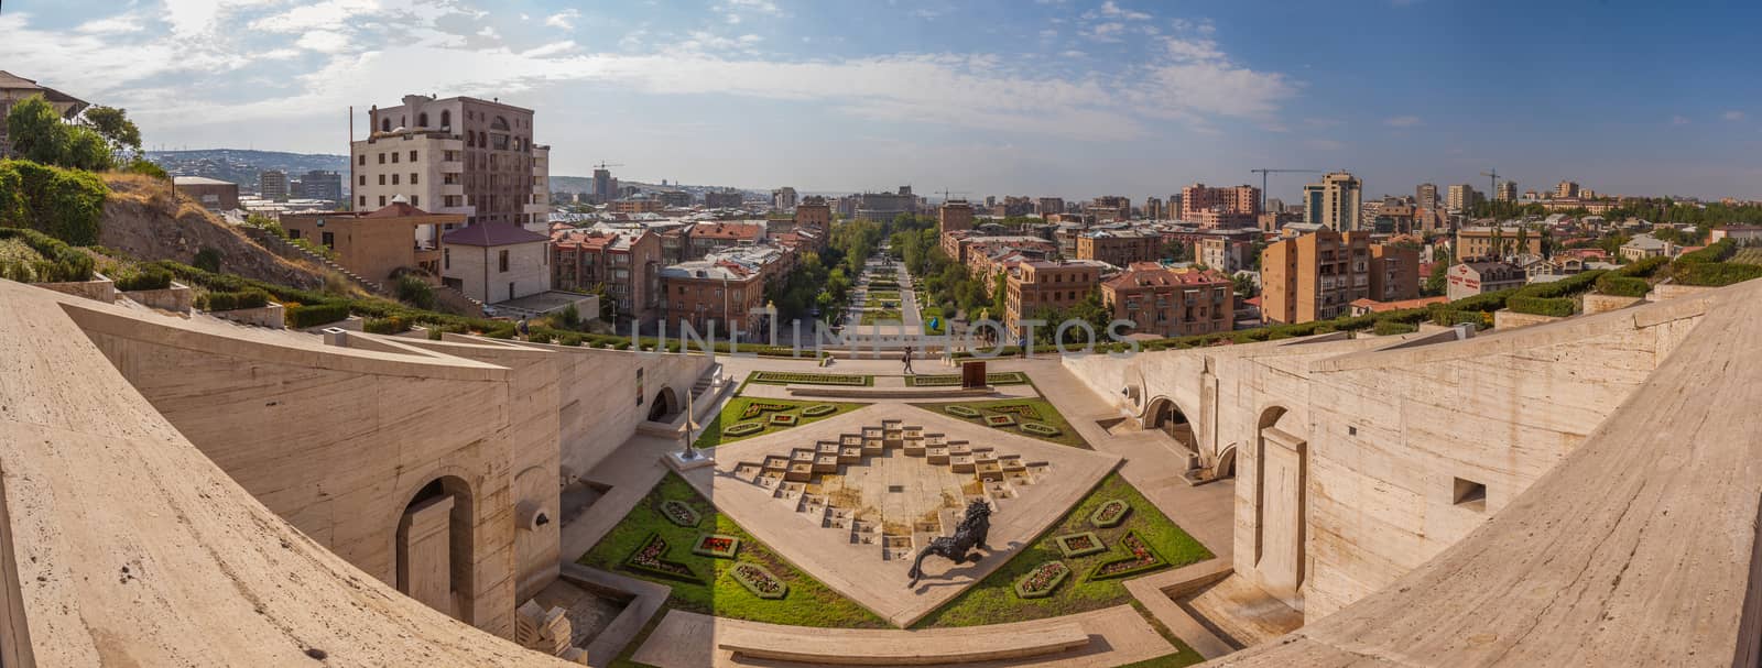
{"label": "sunlit beige travertine wall on the right with small square opening", "polygon": [[[1699,300],[1676,300],[1431,345],[1413,342],[1452,337],[1267,342],[1066,367],[1124,414],[1173,398],[1207,464],[1237,449],[1235,571],[1316,619],[1498,513],[1632,395],[1702,312]],[[1302,455],[1281,449],[1292,460],[1263,476],[1262,418],[1277,409],[1276,430],[1300,441]],[[1260,488],[1299,471],[1300,495]],[[1485,486],[1484,504],[1457,504],[1459,478]],[[1300,560],[1267,560],[1276,550],[1263,548],[1288,536],[1276,520],[1290,513],[1302,516]]]}

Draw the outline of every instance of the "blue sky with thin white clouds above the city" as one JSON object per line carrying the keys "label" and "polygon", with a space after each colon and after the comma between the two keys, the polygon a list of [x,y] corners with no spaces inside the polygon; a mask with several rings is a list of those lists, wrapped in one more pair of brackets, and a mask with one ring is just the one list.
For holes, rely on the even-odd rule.
{"label": "blue sky with thin white clouds above the city", "polygon": [[[148,148],[347,153],[405,93],[532,108],[553,174],[1166,197],[1348,169],[1762,199],[1762,4],[5,0],[0,69]],[[1297,201],[1316,174],[1274,174]]]}

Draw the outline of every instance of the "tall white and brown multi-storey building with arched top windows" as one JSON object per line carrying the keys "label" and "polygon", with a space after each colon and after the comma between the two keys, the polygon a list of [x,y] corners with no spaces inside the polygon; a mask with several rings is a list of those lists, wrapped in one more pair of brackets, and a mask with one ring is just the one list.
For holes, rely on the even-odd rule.
{"label": "tall white and brown multi-storey building with arched top windows", "polygon": [[534,143],[532,109],[476,97],[405,95],[368,111],[351,145],[354,208],[403,196],[411,206],[467,224],[543,224],[550,215],[550,146]]}

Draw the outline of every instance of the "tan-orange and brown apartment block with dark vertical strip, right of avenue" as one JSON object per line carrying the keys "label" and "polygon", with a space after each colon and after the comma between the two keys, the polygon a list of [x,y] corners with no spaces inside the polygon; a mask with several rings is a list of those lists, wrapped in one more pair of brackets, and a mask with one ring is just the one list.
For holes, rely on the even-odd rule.
{"label": "tan-orange and brown apartment block with dark vertical strip, right of avenue", "polygon": [[1260,254],[1262,317],[1295,324],[1344,315],[1371,296],[1369,233],[1318,229]]}

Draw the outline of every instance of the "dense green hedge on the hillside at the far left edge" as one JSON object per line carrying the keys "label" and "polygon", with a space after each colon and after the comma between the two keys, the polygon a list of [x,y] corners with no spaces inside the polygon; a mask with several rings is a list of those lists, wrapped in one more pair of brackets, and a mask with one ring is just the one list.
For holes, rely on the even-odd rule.
{"label": "dense green hedge on the hillside at the far left edge", "polygon": [[25,227],[70,245],[99,243],[109,187],[90,171],[0,160],[0,227]]}

